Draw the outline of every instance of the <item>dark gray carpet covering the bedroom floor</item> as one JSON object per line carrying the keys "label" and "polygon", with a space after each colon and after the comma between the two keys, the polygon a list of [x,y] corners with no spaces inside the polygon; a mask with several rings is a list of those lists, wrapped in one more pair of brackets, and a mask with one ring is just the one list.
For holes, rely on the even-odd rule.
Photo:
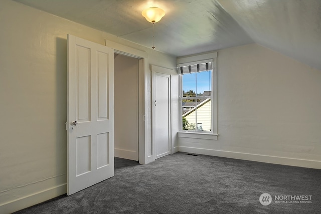
{"label": "dark gray carpet covering the bedroom floor", "polygon": [[[321,213],[321,170],[178,152],[139,165],[115,158],[115,176],[16,213]],[[312,195],[262,205],[262,193]]]}

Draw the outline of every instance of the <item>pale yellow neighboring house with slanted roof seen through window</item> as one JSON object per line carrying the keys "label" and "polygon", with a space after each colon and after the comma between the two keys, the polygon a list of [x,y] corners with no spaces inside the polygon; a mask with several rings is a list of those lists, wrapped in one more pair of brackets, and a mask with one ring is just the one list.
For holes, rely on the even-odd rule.
{"label": "pale yellow neighboring house with slanted roof seen through window", "polygon": [[[204,91],[201,96],[211,96],[211,91]],[[199,99],[198,102],[182,103],[182,116],[186,119],[183,129],[211,131],[211,99]]]}

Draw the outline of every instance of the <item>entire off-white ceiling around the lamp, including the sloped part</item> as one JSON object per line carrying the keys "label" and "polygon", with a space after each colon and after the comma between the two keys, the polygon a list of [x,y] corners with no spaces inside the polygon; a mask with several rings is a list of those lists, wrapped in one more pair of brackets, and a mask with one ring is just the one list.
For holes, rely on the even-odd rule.
{"label": "entire off-white ceiling around the lamp, including the sloped part", "polygon": [[155,49],[184,56],[257,43],[321,70],[321,0],[15,0],[152,47],[141,11],[159,7]]}

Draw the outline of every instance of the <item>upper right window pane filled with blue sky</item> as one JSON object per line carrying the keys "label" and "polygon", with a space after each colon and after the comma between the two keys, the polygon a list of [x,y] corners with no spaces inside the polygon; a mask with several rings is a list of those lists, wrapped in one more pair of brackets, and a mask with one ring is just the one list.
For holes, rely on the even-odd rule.
{"label": "upper right window pane filled with blue sky", "polygon": [[196,73],[197,96],[211,96],[212,91],[212,71],[202,71]]}

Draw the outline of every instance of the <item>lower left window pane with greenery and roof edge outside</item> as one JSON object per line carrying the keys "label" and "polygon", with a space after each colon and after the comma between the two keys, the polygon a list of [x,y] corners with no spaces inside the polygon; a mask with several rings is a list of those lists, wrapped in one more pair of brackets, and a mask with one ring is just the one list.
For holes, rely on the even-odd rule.
{"label": "lower left window pane with greenery and roof edge outside", "polygon": [[182,100],[183,130],[196,130],[196,100]]}

